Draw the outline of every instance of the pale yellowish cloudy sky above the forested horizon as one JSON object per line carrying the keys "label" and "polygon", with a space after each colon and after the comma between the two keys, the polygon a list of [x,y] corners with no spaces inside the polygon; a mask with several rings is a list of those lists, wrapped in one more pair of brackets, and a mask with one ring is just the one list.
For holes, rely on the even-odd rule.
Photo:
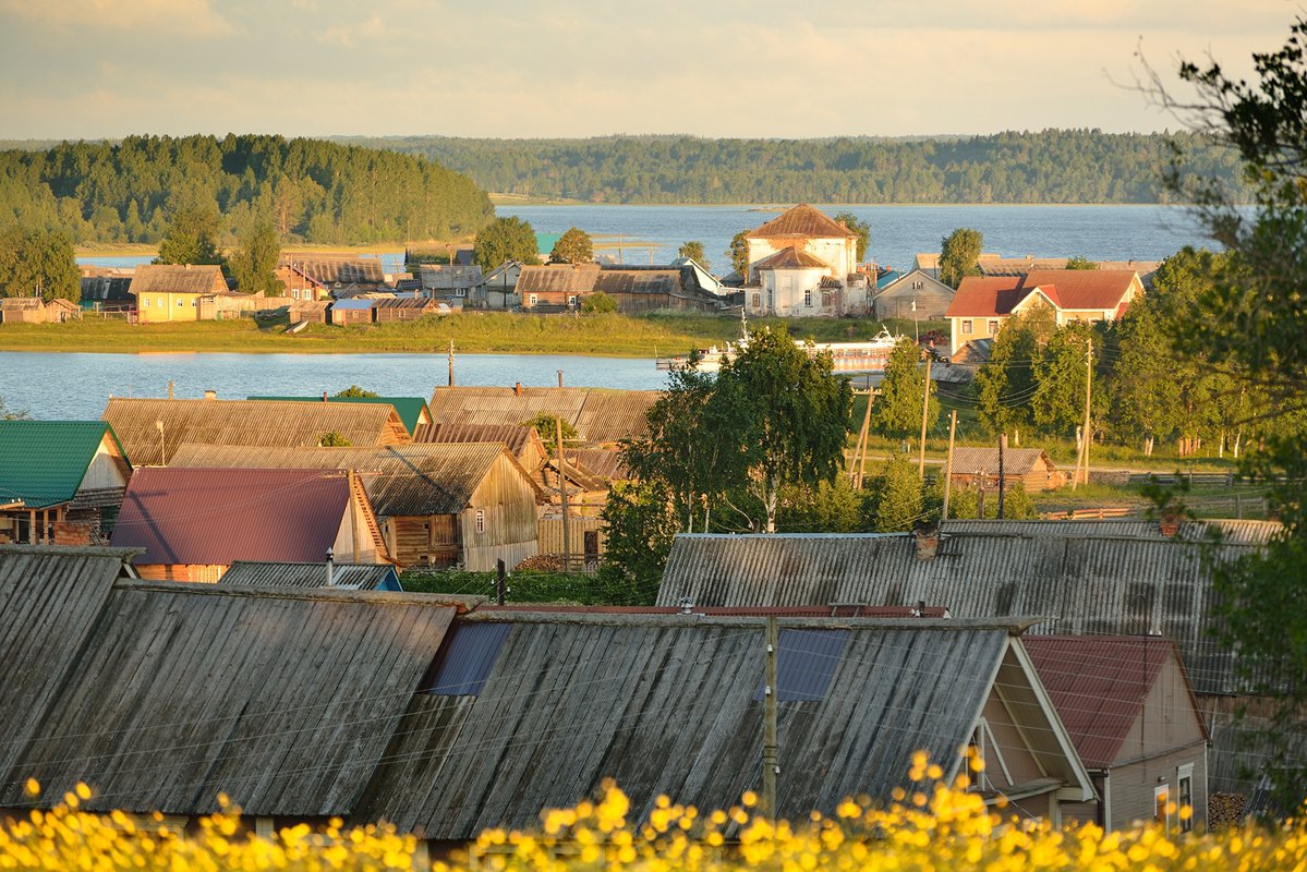
{"label": "pale yellowish cloudy sky above the forested horizon", "polygon": [[0,139],[1176,129],[1289,0],[0,0]]}

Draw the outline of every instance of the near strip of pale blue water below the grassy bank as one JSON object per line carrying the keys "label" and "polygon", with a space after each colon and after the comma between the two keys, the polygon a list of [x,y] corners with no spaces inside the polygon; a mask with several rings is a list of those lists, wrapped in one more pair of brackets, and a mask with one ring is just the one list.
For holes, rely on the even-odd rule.
{"label": "near strip of pale blue water below the grassy bank", "polygon": [[[3,333],[0,333],[3,336]],[[565,354],[457,354],[459,384],[527,387],[558,384],[656,390],[667,373],[652,360]],[[430,397],[448,383],[443,354],[80,354],[0,352],[0,396],[10,411],[34,418],[98,418],[108,396],[223,400],[250,395],[322,396],[358,384],[392,396]]]}

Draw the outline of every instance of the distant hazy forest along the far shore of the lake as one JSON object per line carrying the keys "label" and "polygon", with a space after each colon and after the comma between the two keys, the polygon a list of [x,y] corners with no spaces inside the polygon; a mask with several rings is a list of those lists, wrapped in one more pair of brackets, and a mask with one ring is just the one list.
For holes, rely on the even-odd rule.
{"label": "distant hazy forest along the far shore of the lake", "polygon": [[1191,133],[1047,129],[954,139],[691,136],[340,141],[421,154],[488,191],[588,203],[1168,203],[1187,171],[1234,182],[1231,149]]}

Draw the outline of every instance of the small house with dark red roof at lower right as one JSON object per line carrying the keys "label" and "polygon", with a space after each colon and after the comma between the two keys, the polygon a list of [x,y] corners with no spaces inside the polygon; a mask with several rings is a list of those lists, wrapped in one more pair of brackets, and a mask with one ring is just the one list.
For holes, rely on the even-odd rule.
{"label": "small house with dark red roof at lower right", "polygon": [[[1175,642],[1146,635],[1035,635],[1026,650],[1102,797],[1065,809],[1106,831],[1136,821],[1202,829],[1208,729]],[[1188,814],[1180,814],[1188,808]]]}

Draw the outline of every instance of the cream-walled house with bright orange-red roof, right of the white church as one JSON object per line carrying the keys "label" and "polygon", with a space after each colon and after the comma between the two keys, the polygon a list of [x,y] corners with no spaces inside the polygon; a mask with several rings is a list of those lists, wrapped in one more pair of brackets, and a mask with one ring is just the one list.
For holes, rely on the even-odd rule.
{"label": "cream-walled house with bright orange-red roof, right of the white church", "polygon": [[1120,318],[1144,293],[1138,273],[1103,269],[1056,269],[996,278],[967,276],[949,305],[950,346],[999,335],[1012,315],[1047,307],[1061,327]]}

